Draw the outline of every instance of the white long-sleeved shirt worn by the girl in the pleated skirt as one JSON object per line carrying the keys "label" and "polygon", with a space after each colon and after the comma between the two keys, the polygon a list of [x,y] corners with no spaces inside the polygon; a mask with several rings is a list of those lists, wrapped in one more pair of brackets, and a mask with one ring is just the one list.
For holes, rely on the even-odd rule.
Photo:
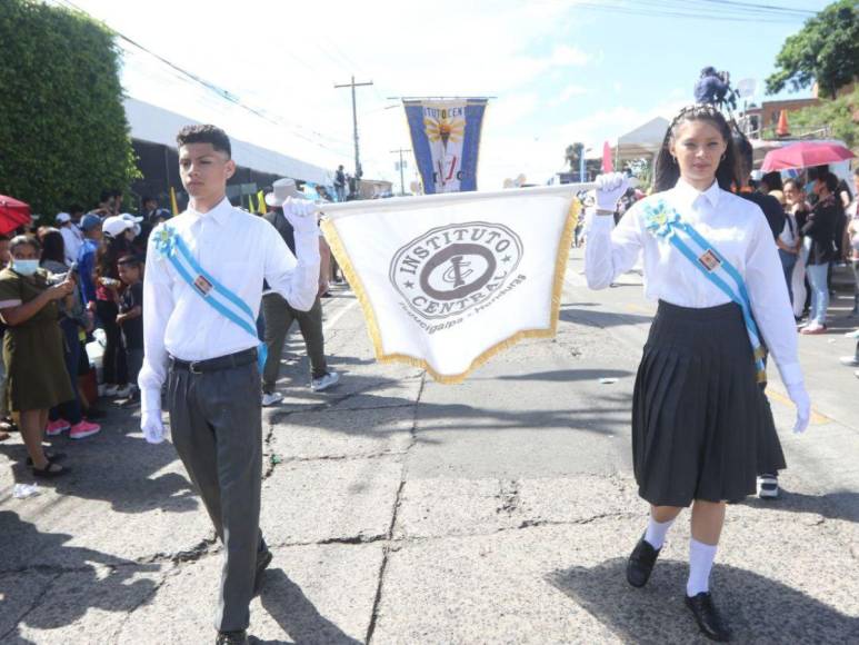
{"label": "white long-sleeved shirt worn by the girl in the pleated skirt", "polygon": [[756,204],[721,190],[717,182],[700,192],[680,179],[671,190],[633,205],[613,230],[611,217],[592,215],[585,249],[588,286],[605,289],[643,254],[648,299],[696,309],[730,302],[669,240],[645,228],[642,207],[658,199],[672,206],[737,268],[782,381],[800,383],[796,321],[772,231]]}

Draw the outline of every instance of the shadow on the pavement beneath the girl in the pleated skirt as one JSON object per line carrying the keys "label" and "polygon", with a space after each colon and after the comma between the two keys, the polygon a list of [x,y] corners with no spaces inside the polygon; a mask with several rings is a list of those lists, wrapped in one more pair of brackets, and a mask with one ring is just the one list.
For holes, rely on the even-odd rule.
{"label": "shadow on the pavement beneath the girl in the pleated skirt", "polygon": [[[626,580],[626,558],[571,567],[547,582],[623,642],[708,643],[683,605],[688,566],[660,560],[643,589]],[[859,621],[753,572],[717,564],[713,597],[740,643],[856,643]]]}

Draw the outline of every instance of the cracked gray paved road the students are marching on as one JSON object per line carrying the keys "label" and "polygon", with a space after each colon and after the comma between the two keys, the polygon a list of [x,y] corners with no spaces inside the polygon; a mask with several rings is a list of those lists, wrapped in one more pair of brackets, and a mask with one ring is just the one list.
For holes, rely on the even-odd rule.
{"label": "cracked gray paved road the students are marching on", "polygon": [[[653,307],[635,274],[589,291],[579,255],[557,338],[459,386],[374,363],[347,291],[324,305],[341,385],[310,393],[292,337],[284,405],[266,411],[276,557],[251,606],[258,642],[697,642],[683,519],[648,587],[623,579],[647,513],[629,410]],[[801,339],[805,436],[770,386],[785,493],[729,509],[713,573],[739,642],[859,642],[859,380],[837,365],[852,347]],[[30,480],[20,440],[0,444],[0,642],[213,641],[219,547],[170,444],[147,445],[136,423],[113,411],[101,435],[54,439],[74,473],[28,499],[11,496]]]}

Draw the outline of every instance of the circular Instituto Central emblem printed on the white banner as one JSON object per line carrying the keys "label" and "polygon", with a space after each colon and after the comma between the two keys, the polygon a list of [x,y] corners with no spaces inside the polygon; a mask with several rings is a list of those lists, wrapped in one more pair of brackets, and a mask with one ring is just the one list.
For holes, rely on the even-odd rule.
{"label": "circular Instituto Central emblem printed on the white banner", "polygon": [[393,256],[390,279],[409,308],[427,319],[487,305],[522,258],[522,241],[506,226],[471,221],[433,228]]}

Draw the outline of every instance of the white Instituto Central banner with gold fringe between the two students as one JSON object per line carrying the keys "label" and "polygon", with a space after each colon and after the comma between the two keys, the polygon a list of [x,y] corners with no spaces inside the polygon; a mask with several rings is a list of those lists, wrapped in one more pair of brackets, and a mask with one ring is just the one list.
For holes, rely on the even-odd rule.
{"label": "white Instituto Central banner with gold fringe between the two students", "polygon": [[326,206],[377,358],[458,383],[522,338],[553,336],[581,187]]}

